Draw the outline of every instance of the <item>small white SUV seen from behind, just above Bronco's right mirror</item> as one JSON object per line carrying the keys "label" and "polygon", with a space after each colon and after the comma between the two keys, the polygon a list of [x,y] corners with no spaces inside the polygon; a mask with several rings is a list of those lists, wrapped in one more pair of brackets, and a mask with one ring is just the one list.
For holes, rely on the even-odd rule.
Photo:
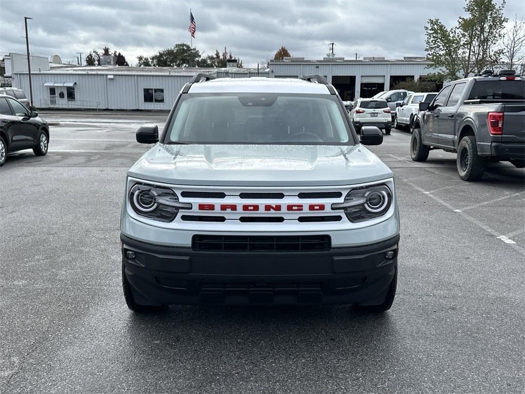
{"label": "small white SUV seen from behind, just above Bronco's right mirror", "polygon": [[360,132],[363,126],[376,126],[390,134],[392,129],[390,108],[384,99],[359,99],[354,102],[350,119],[355,131]]}

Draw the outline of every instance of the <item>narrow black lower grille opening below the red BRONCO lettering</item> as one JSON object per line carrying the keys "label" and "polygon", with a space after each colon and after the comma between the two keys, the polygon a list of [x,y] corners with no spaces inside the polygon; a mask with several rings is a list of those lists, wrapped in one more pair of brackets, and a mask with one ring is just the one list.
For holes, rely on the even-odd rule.
{"label": "narrow black lower grille opening below the red BRONCO lettering", "polygon": [[199,252],[325,252],[329,235],[194,235],[192,249]]}

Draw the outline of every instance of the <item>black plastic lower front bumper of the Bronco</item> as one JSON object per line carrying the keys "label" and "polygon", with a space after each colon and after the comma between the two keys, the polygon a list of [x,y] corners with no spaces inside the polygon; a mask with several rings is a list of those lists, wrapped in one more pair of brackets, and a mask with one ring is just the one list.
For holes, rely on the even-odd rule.
{"label": "black plastic lower front bumper of the Bronco", "polygon": [[[380,304],[397,266],[399,235],[325,252],[199,252],[121,234],[135,302],[159,304]],[[135,253],[128,258],[128,251]],[[386,258],[394,251],[393,258]]]}

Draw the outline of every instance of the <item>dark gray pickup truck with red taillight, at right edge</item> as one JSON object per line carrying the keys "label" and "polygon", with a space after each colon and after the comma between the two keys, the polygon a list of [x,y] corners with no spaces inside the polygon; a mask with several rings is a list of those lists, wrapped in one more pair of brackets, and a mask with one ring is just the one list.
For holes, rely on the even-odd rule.
{"label": "dark gray pickup truck with red taillight, at right edge", "polygon": [[525,77],[508,74],[460,79],[430,103],[419,103],[411,157],[433,149],[457,153],[459,177],[480,179],[489,161],[525,166]]}

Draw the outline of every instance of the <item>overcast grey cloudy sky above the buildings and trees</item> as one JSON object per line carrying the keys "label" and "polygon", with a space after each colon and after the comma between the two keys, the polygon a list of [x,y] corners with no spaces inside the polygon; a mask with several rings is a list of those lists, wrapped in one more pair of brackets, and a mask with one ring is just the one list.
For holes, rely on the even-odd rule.
{"label": "overcast grey cloudy sky above the buildings and trees", "polygon": [[[524,17],[523,4],[507,0],[506,16]],[[84,57],[109,46],[134,64],[138,55],[190,44],[191,8],[197,23],[193,45],[205,55],[226,46],[245,67],[273,57],[281,45],[310,59],[322,58],[330,42],[346,58],[422,56],[426,19],[454,25],[463,6],[463,0],[0,0],[0,55],[25,53],[28,16],[31,53],[76,62],[79,52]]]}

